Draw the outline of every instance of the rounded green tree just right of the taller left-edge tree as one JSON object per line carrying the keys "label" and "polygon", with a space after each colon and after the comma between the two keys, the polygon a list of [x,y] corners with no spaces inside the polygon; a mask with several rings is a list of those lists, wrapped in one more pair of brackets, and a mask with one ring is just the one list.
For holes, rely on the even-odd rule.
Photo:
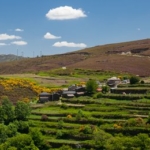
{"label": "rounded green tree just right of the taller left-edge tree", "polygon": [[27,103],[19,101],[15,107],[15,116],[17,120],[26,120],[31,110]]}

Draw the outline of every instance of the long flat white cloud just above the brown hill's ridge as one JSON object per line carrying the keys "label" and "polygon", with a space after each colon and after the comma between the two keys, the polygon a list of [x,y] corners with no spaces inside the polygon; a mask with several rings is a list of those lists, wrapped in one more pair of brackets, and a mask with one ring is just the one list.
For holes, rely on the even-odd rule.
{"label": "long flat white cloud just above the brown hill's ridge", "polygon": [[53,44],[53,46],[55,47],[80,47],[80,48],[83,48],[83,47],[87,47],[86,44],[84,43],[69,43],[67,41],[62,41],[62,42],[56,42]]}

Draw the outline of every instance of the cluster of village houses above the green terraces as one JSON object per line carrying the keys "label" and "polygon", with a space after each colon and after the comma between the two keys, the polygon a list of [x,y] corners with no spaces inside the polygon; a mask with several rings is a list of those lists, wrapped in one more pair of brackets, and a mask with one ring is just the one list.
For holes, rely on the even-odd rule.
{"label": "cluster of village houses above the green terraces", "polygon": [[[111,77],[105,82],[96,81],[97,84],[97,92],[102,92],[102,87],[108,86],[110,88],[109,92],[112,92],[113,89],[116,89],[119,84],[129,84],[129,79],[121,80],[117,77]],[[57,101],[61,98],[73,98],[73,97],[79,97],[79,96],[85,96],[87,94],[86,91],[86,85],[71,85],[68,88],[63,88],[62,90],[59,90],[54,93],[47,93],[42,92],[39,94],[39,100],[38,103],[45,103],[48,101]],[[122,94],[126,94],[123,92]]]}

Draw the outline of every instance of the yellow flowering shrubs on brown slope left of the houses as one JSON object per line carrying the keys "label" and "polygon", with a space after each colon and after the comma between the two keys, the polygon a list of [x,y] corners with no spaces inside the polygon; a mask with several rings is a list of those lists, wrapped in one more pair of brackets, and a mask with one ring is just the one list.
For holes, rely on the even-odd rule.
{"label": "yellow flowering shrubs on brown slope left of the houses", "polygon": [[47,88],[37,85],[35,82],[20,79],[20,78],[0,78],[0,90],[2,95],[7,95],[14,99],[14,101],[20,98],[29,102],[29,98],[37,97],[41,92],[56,92],[59,88]]}

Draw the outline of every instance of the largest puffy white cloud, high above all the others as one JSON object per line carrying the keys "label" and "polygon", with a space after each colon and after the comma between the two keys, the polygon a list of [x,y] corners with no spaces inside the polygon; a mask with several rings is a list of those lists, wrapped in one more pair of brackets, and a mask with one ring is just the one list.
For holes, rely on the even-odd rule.
{"label": "largest puffy white cloud, high above all the others", "polygon": [[80,8],[74,9],[71,6],[60,6],[54,9],[50,9],[46,14],[46,17],[49,20],[67,20],[86,17],[86,14]]}

